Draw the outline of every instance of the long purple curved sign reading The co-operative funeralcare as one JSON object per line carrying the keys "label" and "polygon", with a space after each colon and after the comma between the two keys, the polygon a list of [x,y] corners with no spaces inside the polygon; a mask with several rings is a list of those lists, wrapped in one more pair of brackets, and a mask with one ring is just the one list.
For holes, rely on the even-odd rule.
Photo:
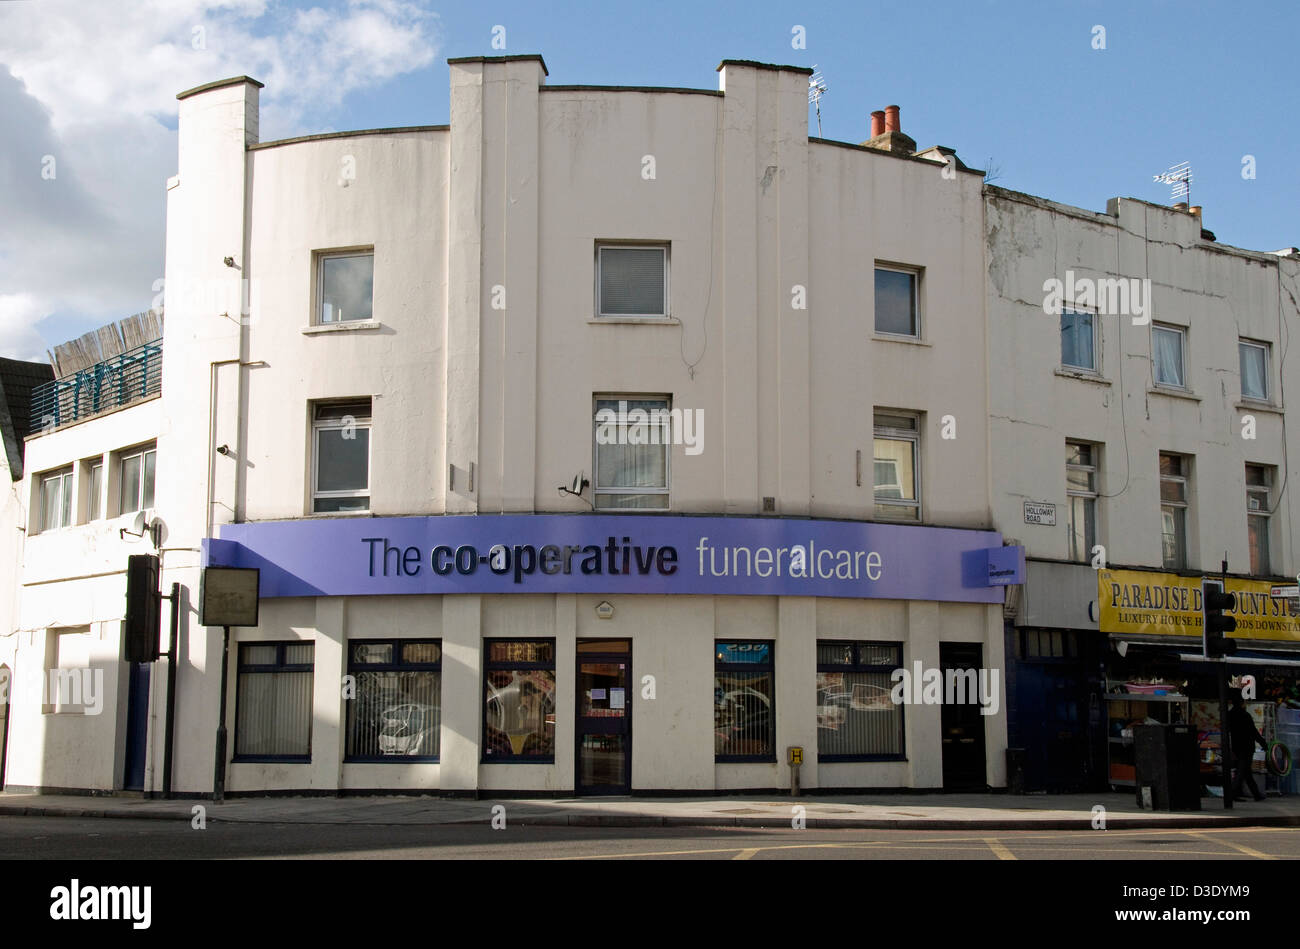
{"label": "long purple curved sign reading The co-operative funeralcare", "polygon": [[677,593],[1001,603],[991,584],[1023,578],[997,566],[1002,552],[993,530],[671,515],[304,519],[225,524],[207,542],[208,563],[260,568],[263,597]]}

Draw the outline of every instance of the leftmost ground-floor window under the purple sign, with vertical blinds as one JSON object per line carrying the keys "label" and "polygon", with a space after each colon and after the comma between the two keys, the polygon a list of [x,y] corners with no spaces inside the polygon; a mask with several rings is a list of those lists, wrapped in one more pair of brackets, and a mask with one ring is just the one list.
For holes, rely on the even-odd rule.
{"label": "leftmost ground-floor window under the purple sign, with vertical blinds", "polygon": [[235,760],[309,762],[316,644],[242,642]]}

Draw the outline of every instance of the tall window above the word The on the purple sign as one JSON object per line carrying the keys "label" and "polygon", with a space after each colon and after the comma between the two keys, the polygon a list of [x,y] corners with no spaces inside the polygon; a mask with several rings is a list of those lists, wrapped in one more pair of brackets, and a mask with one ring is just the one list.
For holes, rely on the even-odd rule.
{"label": "tall window above the word The on the purple sign", "polygon": [[370,400],[317,404],[312,420],[312,511],[370,510]]}

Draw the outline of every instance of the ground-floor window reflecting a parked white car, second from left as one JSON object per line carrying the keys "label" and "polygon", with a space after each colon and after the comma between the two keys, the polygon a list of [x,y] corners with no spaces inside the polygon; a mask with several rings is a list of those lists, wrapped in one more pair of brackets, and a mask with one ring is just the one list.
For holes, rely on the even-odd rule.
{"label": "ground-floor window reflecting a parked white car, second from left", "polygon": [[436,762],[442,731],[442,644],[352,640],[347,760]]}

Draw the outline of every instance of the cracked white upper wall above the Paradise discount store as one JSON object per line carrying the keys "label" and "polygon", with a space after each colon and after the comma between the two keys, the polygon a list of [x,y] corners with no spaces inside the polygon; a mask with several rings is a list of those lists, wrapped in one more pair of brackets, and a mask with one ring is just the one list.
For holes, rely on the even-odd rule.
{"label": "cracked white upper wall above the Paradise discount store", "polygon": [[[1065,442],[1104,443],[1098,543],[1114,566],[1161,566],[1161,451],[1193,455],[1188,568],[1217,571],[1225,551],[1247,573],[1245,464],[1277,467],[1274,503],[1300,441],[1287,434],[1283,406],[1240,398],[1238,338],[1271,343],[1273,393],[1300,390],[1300,364],[1280,359],[1300,330],[1300,260],[1225,247],[1200,237],[1193,216],[1132,199],[1092,213],[989,188],[988,318],[989,443],[994,523],[1028,556],[1065,559]],[[1213,221],[1210,221],[1213,224]],[[1156,391],[1150,326],[1101,316],[1100,378],[1062,374],[1060,324],[1043,311],[1044,281],[1149,278],[1158,322],[1182,326],[1187,396]],[[1242,437],[1244,415],[1257,437]],[[1297,569],[1300,508],[1280,495],[1271,519],[1274,571]],[[1024,523],[1023,500],[1057,504],[1057,525]]]}

